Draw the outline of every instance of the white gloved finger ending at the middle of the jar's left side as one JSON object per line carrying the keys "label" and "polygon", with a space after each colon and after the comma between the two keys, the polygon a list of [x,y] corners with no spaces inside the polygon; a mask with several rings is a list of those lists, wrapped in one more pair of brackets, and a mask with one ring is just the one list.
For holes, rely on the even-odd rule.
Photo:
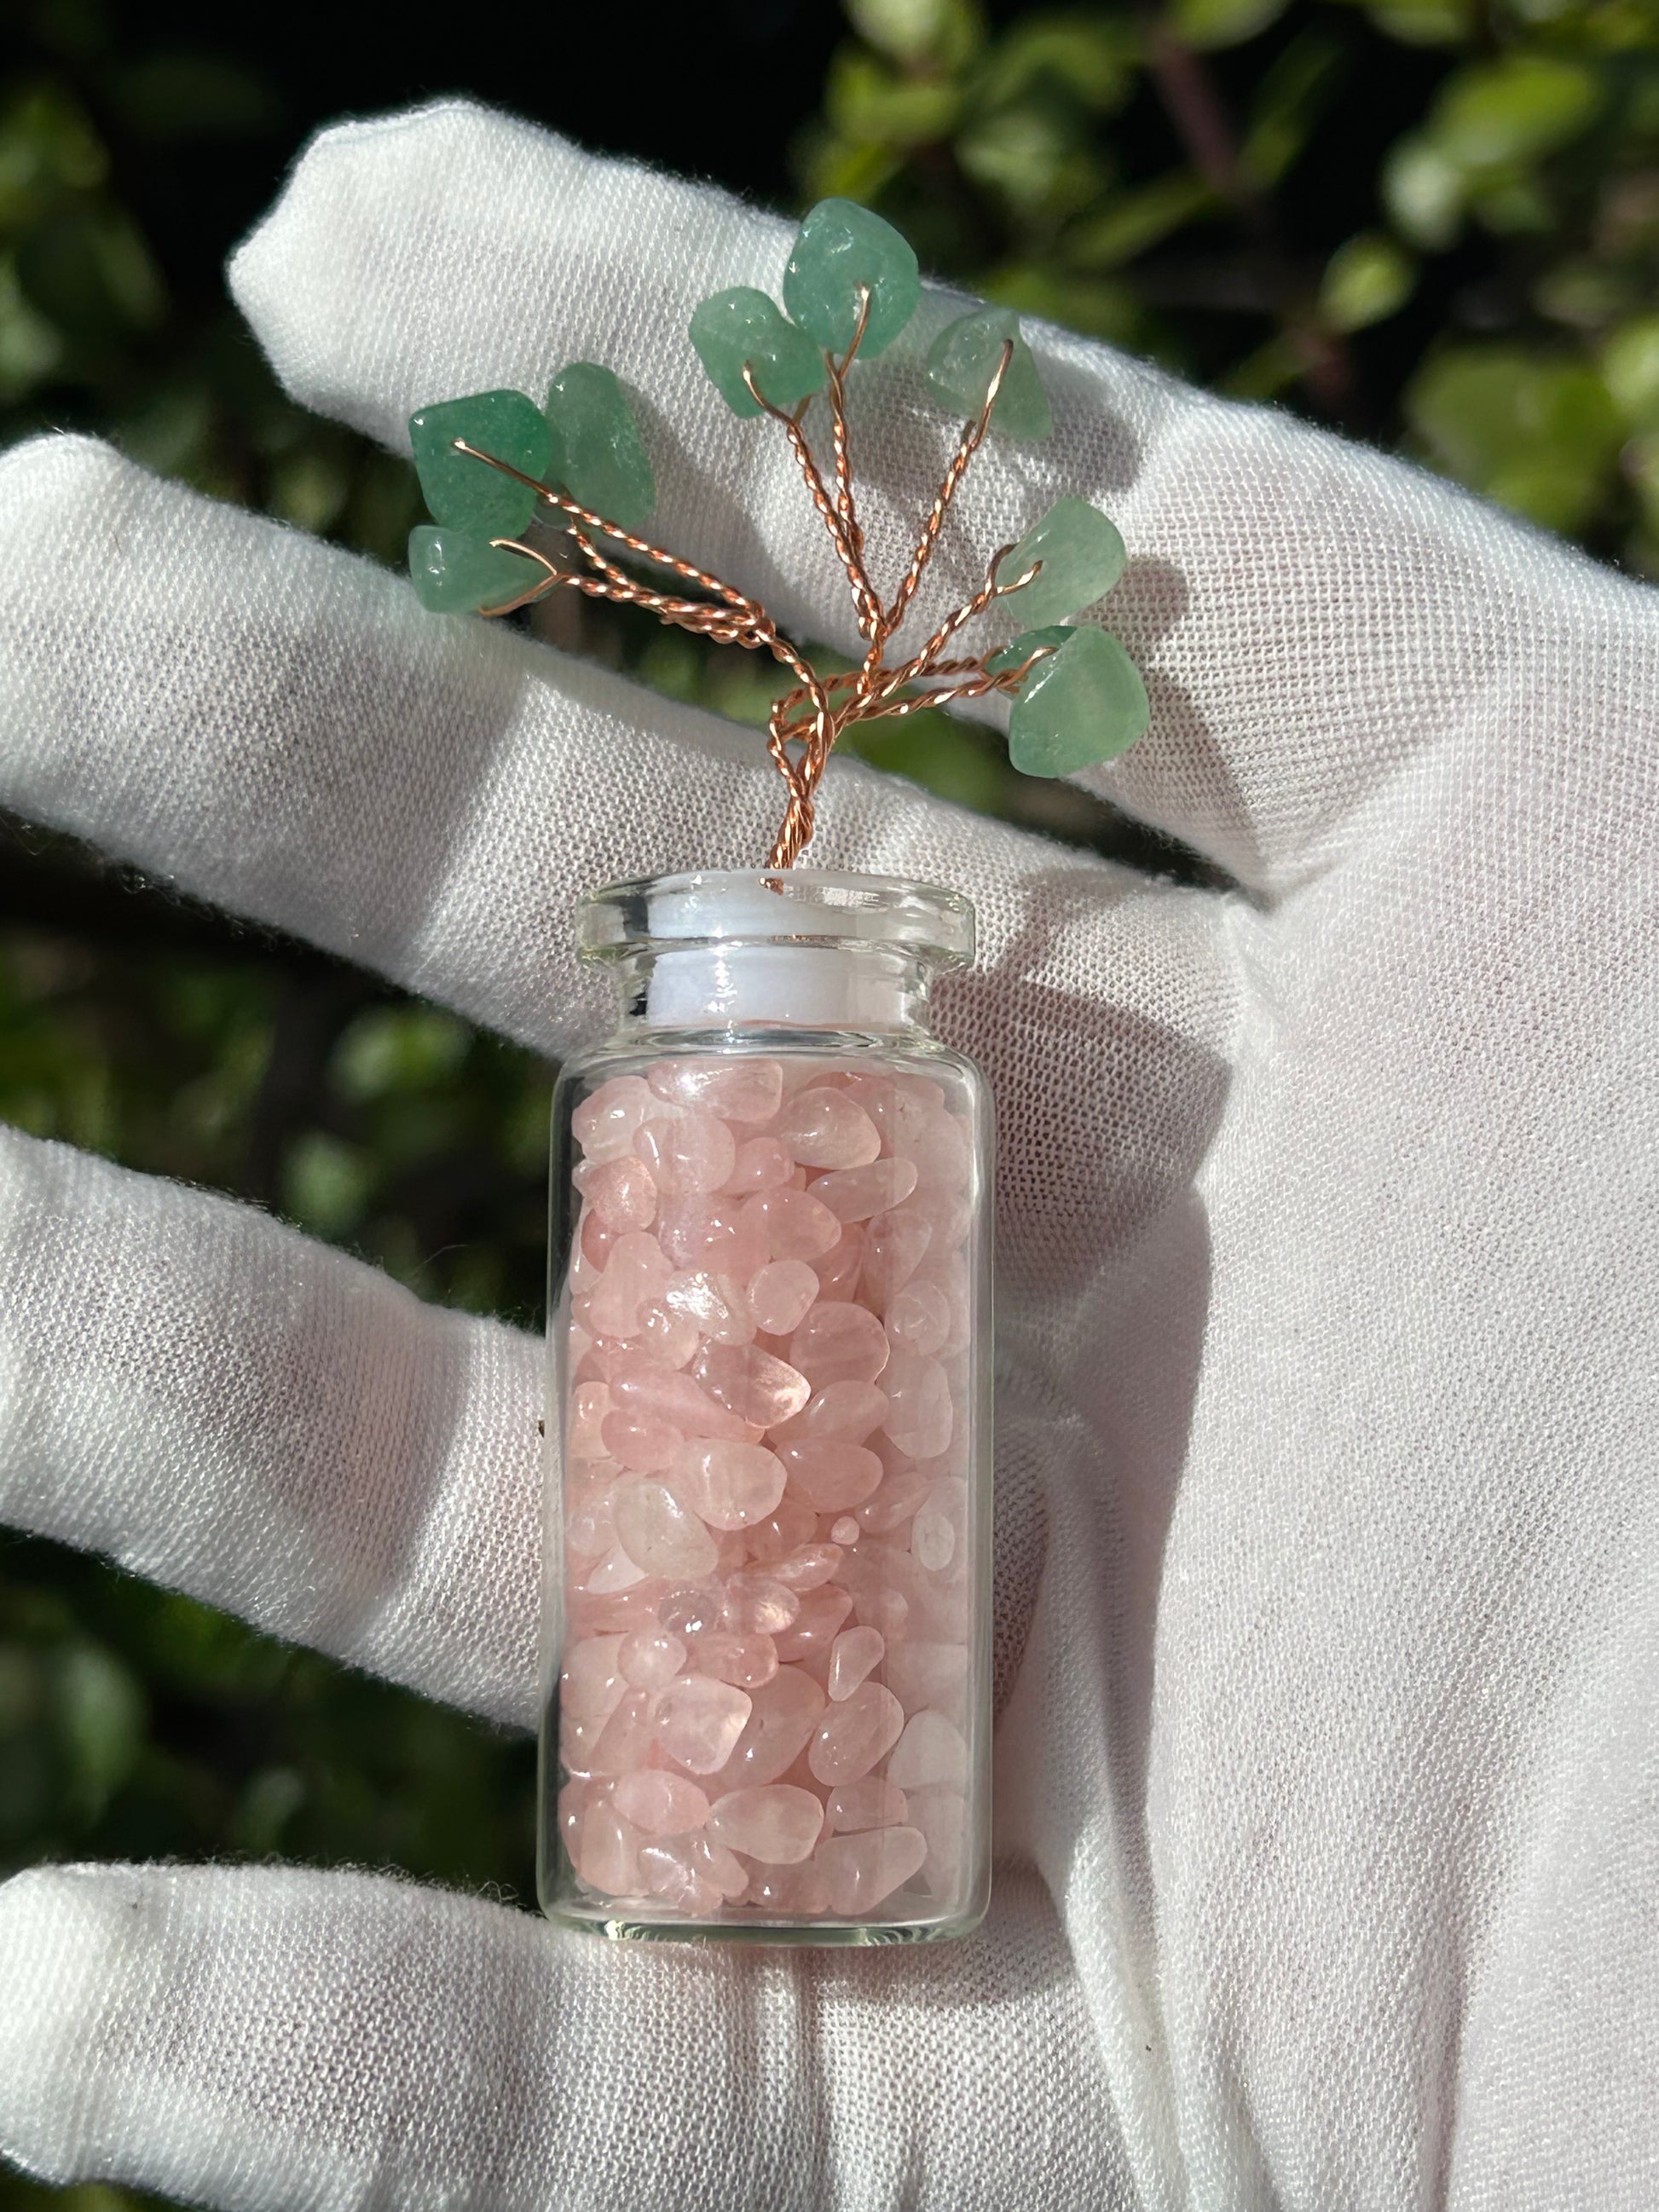
{"label": "white gloved finger ending at the middle of the jar's left side", "polygon": [[535,1723],[535,1338],[0,1128],[0,1522]]}

